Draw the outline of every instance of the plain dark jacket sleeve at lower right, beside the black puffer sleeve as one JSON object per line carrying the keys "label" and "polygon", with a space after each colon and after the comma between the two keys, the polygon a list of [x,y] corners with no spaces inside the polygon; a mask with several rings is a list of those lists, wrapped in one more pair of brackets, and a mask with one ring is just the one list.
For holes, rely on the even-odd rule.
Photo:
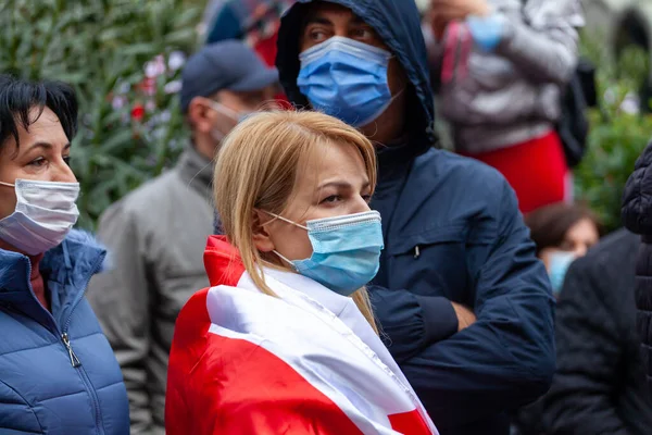
{"label": "plain dark jacket sleeve at lower right, beside the black puffer sleeve", "polygon": [[557,372],[543,401],[550,433],[628,433],[613,403],[627,337],[614,313],[617,281],[610,279],[609,270],[594,258],[582,258],[566,276],[556,310]]}

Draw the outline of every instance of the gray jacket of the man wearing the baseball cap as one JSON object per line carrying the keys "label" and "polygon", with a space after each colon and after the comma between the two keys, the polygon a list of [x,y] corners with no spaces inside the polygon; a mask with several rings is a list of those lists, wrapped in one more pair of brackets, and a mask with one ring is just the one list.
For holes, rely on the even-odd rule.
{"label": "gray jacket of the man wearing the baseball cap", "polygon": [[209,281],[213,165],[188,149],[170,172],[108,209],[99,238],[111,270],[88,300],[117,357],[129,396],[131,434],[164,434],[167,359],[177,314]]}

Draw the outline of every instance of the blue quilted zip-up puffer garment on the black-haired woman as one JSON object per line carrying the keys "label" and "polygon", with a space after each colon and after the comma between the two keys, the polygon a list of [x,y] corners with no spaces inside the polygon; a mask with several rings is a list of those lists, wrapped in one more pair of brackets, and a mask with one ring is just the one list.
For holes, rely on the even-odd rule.
{"label": "blue quilted zip-up puffer garment on the black-haired woman", "polygon": [[46,253],[50,313],[29,284],[29,259],[0,249],[0,434],[129,433],[120,366],[84,298],[104,257],[76,231]]}

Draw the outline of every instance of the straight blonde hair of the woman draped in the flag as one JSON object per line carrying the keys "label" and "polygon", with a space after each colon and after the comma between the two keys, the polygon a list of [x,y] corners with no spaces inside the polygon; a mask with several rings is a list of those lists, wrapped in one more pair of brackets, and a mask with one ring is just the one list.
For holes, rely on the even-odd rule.
{"label": "straight blonde hair of the woman draped in the flag", "polygon": [[[364,161],[372,189],[376,186],[376,153],[355,128],[318,112],[262,112],[240,123],[224,140],[214,177],[215,204],[228,241],[240,251],[242,264],[256,287],[276,296],[265,284],[265,253],[253,243],[256,211],[283,214],[294,191],[299,166],[324,142],[355,147]],[[287,265],[279,266],[289,270]],[[363,287],[353,301],[378,332]]]}

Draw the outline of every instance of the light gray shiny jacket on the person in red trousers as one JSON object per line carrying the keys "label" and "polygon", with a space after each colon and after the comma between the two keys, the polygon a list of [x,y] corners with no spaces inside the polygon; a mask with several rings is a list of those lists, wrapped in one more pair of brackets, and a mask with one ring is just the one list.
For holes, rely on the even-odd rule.
{"label": "light gray shiny jacket on the person in red trousers", "polygon": [[[439,114],[452,128],[455,148],[492,151],[549,132],[560,116],[561,89],[577,65],[579,0],[489,0],[502,14],[504,34],[493,52],[473,48],[467,74],[438,89]],[[435,82],[441,44],[424,26]]]}

